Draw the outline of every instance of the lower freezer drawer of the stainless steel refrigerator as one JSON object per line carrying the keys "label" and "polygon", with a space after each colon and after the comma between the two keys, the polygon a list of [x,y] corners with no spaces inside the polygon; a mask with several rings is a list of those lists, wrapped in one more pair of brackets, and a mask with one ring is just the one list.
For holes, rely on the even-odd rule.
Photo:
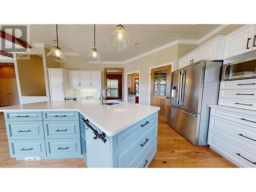
{"label": "lower freezer drawer of the stainless steel refrigerator", "polygon": [[198,115],[200,114],[192,114],[170,106],[169,124],[193,144],[198,145]]}

